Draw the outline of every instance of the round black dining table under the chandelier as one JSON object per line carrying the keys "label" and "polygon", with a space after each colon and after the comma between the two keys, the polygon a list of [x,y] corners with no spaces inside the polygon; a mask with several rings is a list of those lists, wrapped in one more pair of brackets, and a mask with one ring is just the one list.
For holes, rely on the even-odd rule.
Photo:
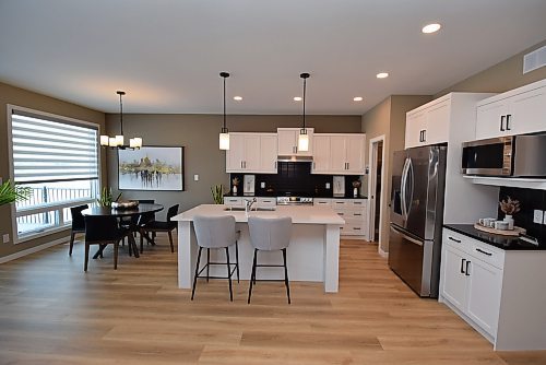
{"label": "round black dining table under the chandelier", "polygon": [[[133,208],[111,208],[111,207],[91,207],[84,209],[82,214],[85,215],[100,215],[100,216],[116,216],[119,220],[123,217],[130,217],[130,220],[123,221],[129,226],[129,235],[128,235],[128,244],[130,245],[130,250],[134,252],[134,257],[139,258],[139,248],[136,247],[136,242],[134,240],[134,232],[138,228],[138,219],[144,214],[153,214],[161,212],[164,209],[162,204],[152,204],[152,203],[140,203]],[[93,258],[96,259],[98,256],[103,254],[102,247]]]}

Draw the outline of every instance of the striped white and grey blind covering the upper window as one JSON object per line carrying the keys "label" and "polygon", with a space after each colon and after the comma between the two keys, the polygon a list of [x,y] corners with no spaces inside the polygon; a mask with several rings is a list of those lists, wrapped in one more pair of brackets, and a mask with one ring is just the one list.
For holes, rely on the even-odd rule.
{"label": "striped white and grey blind covering the upper window", "polygon": [[16,110],[11,128],[15,182],[98,179],[96,128]]}

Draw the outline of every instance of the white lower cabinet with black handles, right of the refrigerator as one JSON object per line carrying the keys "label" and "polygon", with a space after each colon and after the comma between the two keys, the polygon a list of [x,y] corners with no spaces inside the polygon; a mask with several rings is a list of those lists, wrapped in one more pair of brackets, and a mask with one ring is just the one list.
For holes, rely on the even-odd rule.
{"label": "white lower cabinet with black handles, right of the refrigerator", "polygon": [[495,350],[546,350],[546,250],[502,250],[443,228],[439,302]]}

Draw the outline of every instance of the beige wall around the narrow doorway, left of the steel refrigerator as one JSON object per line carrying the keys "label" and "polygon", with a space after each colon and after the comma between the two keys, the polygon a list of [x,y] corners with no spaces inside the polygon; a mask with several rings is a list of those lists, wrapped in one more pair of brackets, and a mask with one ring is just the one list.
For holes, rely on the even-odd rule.
{"label": "beige wall around the narrow doorway, left of the steel refrigerator", "polygon": [[[375,106],[363,116],[361,130],[368,141],[385,136],[383,150],[384,188],[381,195],[381,249],[389,250],[389,204],[391,197],[392,155],[394,151],[404,149],[406,111],[412,110],[431,99],[429,95],[392,95]],[[369,161],[369,142],[366,149],[366,161]],[[368,178],[366,179],[366,182]],[[365,188],[367,189],[367,188]],[[366,190],[365,190],[366,191]]]}

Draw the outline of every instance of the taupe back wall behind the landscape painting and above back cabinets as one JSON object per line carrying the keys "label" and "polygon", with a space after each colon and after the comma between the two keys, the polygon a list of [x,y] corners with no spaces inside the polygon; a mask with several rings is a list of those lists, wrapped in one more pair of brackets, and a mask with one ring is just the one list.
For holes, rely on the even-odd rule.
{"label": "taupe back wall behind the landscape painting and above back cabinets", "polygon": [[[119,115],[107,115],[108,131],[119,130]],[[218,150],[219,115],[123,115],[127,138],[141,136],[144,145],[185,146],[186,191],[123,190],[123,199],[155,199],[180,210],[202,203],[212,203],[211,186],[228,187],[225,173],[225,152]],[[275,132],[278,127],[300,127],[301,116],[228,116],[227,127],[239,132]],[[360,116],[309,116],[307,126],[316,132],[360,132]],[[112,190],[118,191],[117,154],[108,151],[108,177]],[[199,181],[193,175],[199,174]],[[165,212],[163,212],[164,215]]]}

